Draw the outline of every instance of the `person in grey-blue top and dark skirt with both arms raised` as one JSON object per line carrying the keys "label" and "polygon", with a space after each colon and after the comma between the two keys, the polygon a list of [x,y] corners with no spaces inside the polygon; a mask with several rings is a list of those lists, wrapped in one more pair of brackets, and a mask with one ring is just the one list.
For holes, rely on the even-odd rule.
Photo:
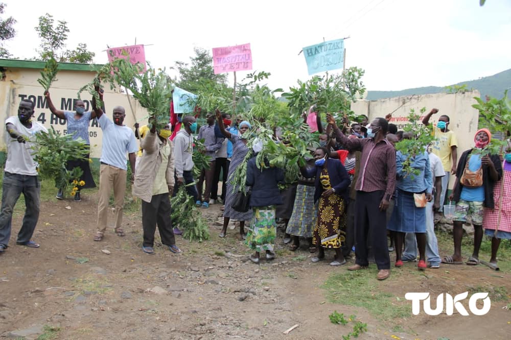
{"label": "person in grey-blue top and dark skirt with both arms raised", "polygon": [[[99,88],[97,88],[99,91]],[[83,101],[75,102],[75,110],[76,111],[63,111],[57,110],[55,105],[53,105],[52,99],[50,98],[50,92],[44,91],[44,96],[48,102],[48,108],[50,111],[59,117],[60,119],[67,120],[67,134],[72,134],[73,139],[82,139],[85,145],[87,145],[87,149],[90,149],[90,141],[89,141],[89,122],[90,119],[96,118],[96,112],[85,111],[85,103]],[[103,93],[100,92],[100,98],[103,99]],[[96,132],[95,132],[96,133]],[[87,153],[86,159],[77,159],[77,160],[68,160],[66,163],[66,169],[71,171],[75,167],[79,167],[82,169],[82,176],[77,180],[78,183],[74,183],[75,188],[78,190],[73,190],[72,193],[75,193],[74,201],[80,202],[82,199],[80,198],[80,190],[95,188],[96,183],[92,178],[92,174],[90,173],[89,166],[89,154]],[[62,186],[58,186],[57,199],[64,199],[64,192]]]}

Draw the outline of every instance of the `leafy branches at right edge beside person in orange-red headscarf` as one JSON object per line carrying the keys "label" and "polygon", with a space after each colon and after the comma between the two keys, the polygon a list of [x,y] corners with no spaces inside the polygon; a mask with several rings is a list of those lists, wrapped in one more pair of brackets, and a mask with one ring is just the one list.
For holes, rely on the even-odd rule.
{"label": "leafy branches at right edge beside person in orange-red headscarf", "polygon": [[511,132],[511,100],[507,98],[507,90],[501,99],[489,98],[486,102],[474,97],[477,104],[473,108],[479,110],[479,128],[487,128],[492,133],[500,132],[504,140],[493,138],[485,148],[476,152],[485,156],[487,154],[501,155],[505,152],[507,134]]}

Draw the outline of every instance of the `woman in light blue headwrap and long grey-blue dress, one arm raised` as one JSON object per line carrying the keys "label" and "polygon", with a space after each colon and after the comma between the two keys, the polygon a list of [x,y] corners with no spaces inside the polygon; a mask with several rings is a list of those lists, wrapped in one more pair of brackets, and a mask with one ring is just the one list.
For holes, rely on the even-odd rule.
{"label": "woman in light blue headwrap and long grey-blue dress, one arm raised", "polygon": [[[252,220],[252,209],[248,209],[247,212],[239,212],[231,207],[233,205],[233,199],[236,193],[240,191],[240,188],[231,182],[233,182],[233,176],[236,172],[236,169],[238,166],[240,166],[241,163],[243,163],[245,156],[248,153],[247,140],[245,137],[243,137],[243,134],[251,129],[252,126],[246,120],[243,120],[243,122],[241,122],[238,126],[239,135],[235,135],[225,130],[222,114],[218,110],[216,111],[216,117],[220,132],[233,143],[233,156],[230,160],[229,173],[227,174],[227,191],[225,193],[225,207],[223,212],[224,222],[222,231],[218,236],[225,237],[225,234],[227,233],[227,225],[229,224],[230,219],[233,218],[234,220],[240,221],[240,235],[245,237],[245,221]],[[241,188],[241,190],[246,191],[246,188]]]}

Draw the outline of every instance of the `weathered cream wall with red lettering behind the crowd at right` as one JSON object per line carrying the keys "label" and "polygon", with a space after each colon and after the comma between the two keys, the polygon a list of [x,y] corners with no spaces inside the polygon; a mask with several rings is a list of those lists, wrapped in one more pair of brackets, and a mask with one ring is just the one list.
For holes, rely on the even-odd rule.
{"label": "weathered cream wall with red lettering behind the crowd at right", "polygon": [[[399,130],[402,130],[406,124],[409,124],[406,116],[410,109],[419,113],[421,108],[426,107],[425,114],[432,108],[439,111],[434,114],[430,123],[436,124],[440,115],[449,116],[451,124],[449,129],[456,133],[458,138],[458,159],[463,151],[474,146],[474,135],[477,131],[479,111],[472,107],[476,104],[474,97],[479,97],[479,91],[470,91],[465,93],[435,93],[423,95],[400,96],[396,98],[380,99],[377,101],[357,101],[352,104],[352,110],[356,114],[365,114],[371,119],[376,117],[385,117],[392,113],[390,123],[396,124]],[[423,116],[421,117],[422,120]],[[449,188],[452,189],[454,177],[449,181]]]}

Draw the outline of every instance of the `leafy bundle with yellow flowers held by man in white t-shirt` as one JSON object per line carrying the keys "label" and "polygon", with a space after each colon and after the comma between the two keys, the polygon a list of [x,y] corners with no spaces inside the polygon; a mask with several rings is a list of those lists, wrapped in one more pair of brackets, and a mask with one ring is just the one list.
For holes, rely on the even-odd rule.
{"label": "leafy bundle with yellow flowers held by man in white t-shirt", "polygon": [[82,169],[76,167],[69,171],[65,165],[69,160],[88,160],[87,145],[83,141],[74,140],[72,134],[60,135],[60,132],[55,131],[52,126],[48,133],[35,135],[31,148],[35,153],[41,178],[54,179],[55,186],[64,190],[70,182],[73,182],[77,184],[73,186],[73,190],[75,192],[78,190],[78,185],[81,184],[79,179],[83,174]]}

